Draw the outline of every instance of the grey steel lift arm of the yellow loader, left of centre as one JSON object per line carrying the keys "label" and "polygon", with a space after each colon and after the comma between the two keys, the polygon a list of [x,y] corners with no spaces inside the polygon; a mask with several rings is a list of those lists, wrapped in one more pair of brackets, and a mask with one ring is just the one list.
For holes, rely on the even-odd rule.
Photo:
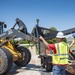
{"label": "grey steel lift arm of the yellow loader, left of centre", "polygon": [[[15,29],[15,26],[18,25],[19,29]],[[0,39],[3,38],[9,38],[12,39],[14,36],[16,36],[16,38],[21,38],[21,39],[25,39],[28,41],[36,41],[37,38],[34,37],[33,35],[31,35],[30,33],[27,32],[27,28],[25,26],[25,24],[19,19],[16,19],[16,23],[15,25],[8,31],[2,33],[0,35]]]}

